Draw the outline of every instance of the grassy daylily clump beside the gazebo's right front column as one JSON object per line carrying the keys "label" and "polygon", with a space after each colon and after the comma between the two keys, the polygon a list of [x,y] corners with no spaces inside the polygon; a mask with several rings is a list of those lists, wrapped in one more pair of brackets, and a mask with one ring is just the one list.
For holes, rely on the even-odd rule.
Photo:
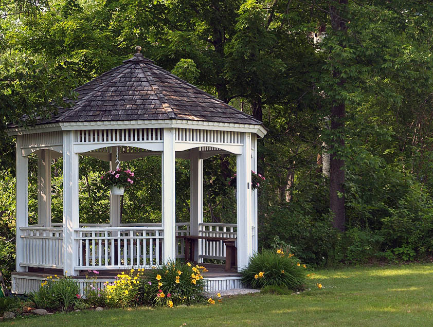
{"label": "grassy daylily clump beside the gazebo's right front column", "polygon": [[276,285],[302,290],[305,288],[308,270],[292,253],[277,249],[256,253],[241,274],[242,282],[252,288]]}

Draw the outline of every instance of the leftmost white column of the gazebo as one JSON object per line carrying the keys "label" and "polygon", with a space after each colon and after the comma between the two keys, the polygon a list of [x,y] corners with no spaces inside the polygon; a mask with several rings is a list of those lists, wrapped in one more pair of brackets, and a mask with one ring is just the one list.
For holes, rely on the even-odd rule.
{"label": "leftmost white column of the gazebo", "polygon": [[20,227],[28,226],[28,158],[23,156],[23,136],[16,136],[16,271],[27,271],[24,262],[24,242]]}

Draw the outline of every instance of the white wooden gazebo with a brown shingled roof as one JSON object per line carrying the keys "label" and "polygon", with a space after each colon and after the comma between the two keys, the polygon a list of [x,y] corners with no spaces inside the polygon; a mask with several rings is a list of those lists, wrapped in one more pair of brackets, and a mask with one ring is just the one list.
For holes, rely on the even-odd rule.
{"label": "white wooden gazebo with a brown shingled roof", "polygon": [[[16,136],[16,271],[12,289],[37,289],[47,271],[84,282],[80,272],[151,268],[185,256],[185,235],[197,237],[194,260],[225,259],[237,239],[237,269],[257,250],[257,139],[262,122],[156,66],[138,52],[122,65],[78,87],[78,98],[31,128],[9,125]],[[38,156],[38,224],[28,224],[28,155]],[[237,157],[237,224],[203,223],[203,160]],[[110,194],[110,224],[80,224],[79,155],[110,161],[161,156],[161,224],[122,224],[120,196]],[[63,224],[51,222],[50,162],[63,157]],[[190,160],[190,222],[175,220],[175,158]],[[133,189],[131,189],[133,191]],[[177,237],[177,238],[176,238]],[[55,269],[55,270],[53,270]],[[104,275],[101,273],[101,276]],[[114,276],[114,275],[113,275]],[[209,289],[241,287],[237,274],[206,277]]]}

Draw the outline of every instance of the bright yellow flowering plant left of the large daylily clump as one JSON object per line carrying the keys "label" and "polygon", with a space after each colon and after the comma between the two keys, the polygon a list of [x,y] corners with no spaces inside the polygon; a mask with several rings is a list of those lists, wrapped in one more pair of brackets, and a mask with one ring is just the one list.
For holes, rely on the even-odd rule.
{"label": "bright yellow flowering plant left of the large daylily clump", "polygon": [[131,269],[129,274],[123,271],[117,275],[114,283],[107,283],[105,285],[105,304],[109,307],[129,307],[137,305],[138,302],[138,288],[141,283],[139,276],[142,275],[141,270],[138,269],[134,274],[135,269]]}

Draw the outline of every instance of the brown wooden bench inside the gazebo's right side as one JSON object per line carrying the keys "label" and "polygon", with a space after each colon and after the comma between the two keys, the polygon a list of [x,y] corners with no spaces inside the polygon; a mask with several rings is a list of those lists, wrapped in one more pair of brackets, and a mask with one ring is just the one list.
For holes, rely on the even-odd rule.
{"label": "brown wooden bench inside the gazebo's right side", "polygon": [[177,239],[185,240],[185,261],[194,261],[194,252],[199,240],[206,240],[208,242],[221,242],[226,246],[226,270],[231,270],[234,266],[237,266],[237,249],[236,239],[230,238],[218,238],[210,236],[199,236],[199,235],[182,235],[177,236]]}

